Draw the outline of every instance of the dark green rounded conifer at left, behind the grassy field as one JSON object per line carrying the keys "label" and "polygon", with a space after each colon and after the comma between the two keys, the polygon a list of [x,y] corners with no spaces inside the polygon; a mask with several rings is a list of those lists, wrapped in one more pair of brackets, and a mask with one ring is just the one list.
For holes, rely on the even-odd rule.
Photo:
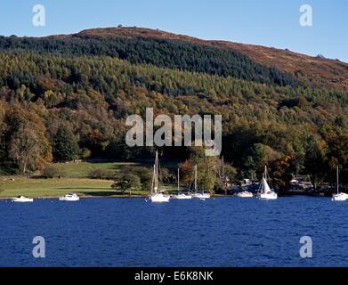
{"label": "dark green rounded conifer at left, behind the grassy field", "polygon": [[53,139],[53,159],[55,161],[71,161],[77,159],[78,145],[74,134],[65,126],[58,129]]}

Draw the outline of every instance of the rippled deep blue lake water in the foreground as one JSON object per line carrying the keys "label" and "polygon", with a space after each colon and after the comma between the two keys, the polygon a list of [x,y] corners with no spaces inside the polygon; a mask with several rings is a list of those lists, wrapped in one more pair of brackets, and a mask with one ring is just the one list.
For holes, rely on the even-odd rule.
{"label": "rippled deep blue lake water in the foreground", "polygon": [[347,217],[348,203],[311,197],[2,200],[0,266],[348,266]]}

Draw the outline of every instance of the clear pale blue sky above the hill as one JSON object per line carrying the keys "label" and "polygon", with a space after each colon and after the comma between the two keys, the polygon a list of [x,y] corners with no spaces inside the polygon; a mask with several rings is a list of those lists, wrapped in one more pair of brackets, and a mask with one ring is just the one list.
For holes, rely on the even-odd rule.
{"label": "clear pale blue sky above the hill", "polygon": [[[85,28],[137,26],[240,43],[323,54],[348,62],[346,0],[5,0],[0,35],[46,36]],[[44,4],[46,26],[32,25],[32,7]],[[313,26],[299,24],[311,4]]]}

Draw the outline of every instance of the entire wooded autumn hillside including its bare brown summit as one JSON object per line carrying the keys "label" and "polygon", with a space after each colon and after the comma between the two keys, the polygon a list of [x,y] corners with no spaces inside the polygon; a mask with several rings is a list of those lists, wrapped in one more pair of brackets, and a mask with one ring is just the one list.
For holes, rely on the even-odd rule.
{"label": "entire wooded autumn hillside including its bare brown summit", "polygon": [[[339,164],[348,181],[347,80],[340,61],[147,28],[0,37],[0,173],[153,158],[153,148],[125,145],[125,118],[152,107],[222,114],[235,179],[267,164],[279,184],[296,172],[334,181]],[[161,153],[185,160],[195,151]]]}

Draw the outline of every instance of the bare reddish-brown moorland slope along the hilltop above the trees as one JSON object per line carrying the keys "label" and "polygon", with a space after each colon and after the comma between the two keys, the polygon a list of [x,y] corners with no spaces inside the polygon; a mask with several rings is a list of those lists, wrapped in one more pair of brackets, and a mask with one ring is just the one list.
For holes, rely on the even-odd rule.
{"label": "bare reddish-brown moorland slope along the hilltop above the trees", "polygon": [[348,63],[312,57],[288,50],[280,50],[260,45],[245,45],[227,41],[202,40],[196,37],[175,35],[150,28],[93,28],[83,30],[74,37],[148,37],[179,41],[189,41],[201,45],[211,45],[222,49],[231,49],[249,56],[254,61],[274,66],[280,71],[290,73],[312,86],[348,87]]}

